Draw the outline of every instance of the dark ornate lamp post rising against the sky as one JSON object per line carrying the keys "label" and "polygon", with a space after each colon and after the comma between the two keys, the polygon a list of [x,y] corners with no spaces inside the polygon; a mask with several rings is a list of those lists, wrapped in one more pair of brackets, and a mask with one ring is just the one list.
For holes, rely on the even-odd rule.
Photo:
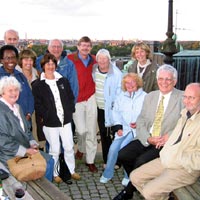
{"label": "dark ornate lamp post rising against the sky", "polygon": [[177,48],[175,45],[175,40],[172,39],[173,33],[173,0],[169,0],[168,7],[168,29],[167,29],[167,39],[163,42],[161,47],[161,53],[165,55],[164,63],[173,63],[173,55],[177,53]]}

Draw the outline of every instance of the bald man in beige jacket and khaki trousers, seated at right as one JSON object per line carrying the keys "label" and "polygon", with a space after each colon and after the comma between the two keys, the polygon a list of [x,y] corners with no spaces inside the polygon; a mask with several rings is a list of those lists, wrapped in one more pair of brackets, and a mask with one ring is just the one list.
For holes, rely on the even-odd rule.
{"label": "bald man in beige jacket and khaki trousers, seated at right", "polygon": [[171,191],[193,184],[200,176],[200,83],[186,87],[183,103],[185,109],[160,151],[160,158],[130,175],[145,199],[168,199]]}

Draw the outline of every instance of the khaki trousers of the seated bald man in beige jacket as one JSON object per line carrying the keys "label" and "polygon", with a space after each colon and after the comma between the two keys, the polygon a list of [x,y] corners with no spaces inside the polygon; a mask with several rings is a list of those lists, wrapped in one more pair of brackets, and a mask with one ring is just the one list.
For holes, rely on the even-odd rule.
{"label": "khaki trousers of the seated bald man in beige jacket", "polygon": [[130,180],[146,200],[167,200],[173,190],[193,184],[200,172],[185,169],[165,169],[160,158],[154,159],[130,174]]}

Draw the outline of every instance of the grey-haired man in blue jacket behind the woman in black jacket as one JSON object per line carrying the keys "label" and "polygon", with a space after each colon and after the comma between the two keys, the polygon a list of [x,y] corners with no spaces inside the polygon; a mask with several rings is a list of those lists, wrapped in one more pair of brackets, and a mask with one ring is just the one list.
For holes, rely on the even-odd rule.
{"label": "grey-haired man in blue jacket behind the woman in black jacket", "polygon": [[[73,92],[73,95],[75,97],[75,102],[78,97],[78,78],[77,78],[77,72],[74,64],[71,60],[69,60],[66,57],[66,53],[63,51],[63,42],[58,39],[53,39],[49,41],[48,45],[48,52],[53,54],[57,59],[58,67],[56,68],[56,71],[60,73],[62,76],[67,78],[67,80],[70,83],[71,90]],[[42,56],[39,56],[36,60],[36,68],[40,72],[42,72],[42,68],[40,65],[40,61],[43,58]]]}

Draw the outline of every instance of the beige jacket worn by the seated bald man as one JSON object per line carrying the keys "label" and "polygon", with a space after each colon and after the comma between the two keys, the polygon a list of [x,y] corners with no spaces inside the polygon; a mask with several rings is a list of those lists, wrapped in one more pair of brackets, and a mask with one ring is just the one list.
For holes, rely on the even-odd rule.
{"label": "beige jacket worn by the seated bald man", "polygon": [[181,141],[174,144],[187,119],[186,113],[186,109],[182,110],[181,118],[160,151],[160,158],[166,168],[184,168],[189,173],[194,171],[200,173],[200,113],[195,113],[188,119]]}

